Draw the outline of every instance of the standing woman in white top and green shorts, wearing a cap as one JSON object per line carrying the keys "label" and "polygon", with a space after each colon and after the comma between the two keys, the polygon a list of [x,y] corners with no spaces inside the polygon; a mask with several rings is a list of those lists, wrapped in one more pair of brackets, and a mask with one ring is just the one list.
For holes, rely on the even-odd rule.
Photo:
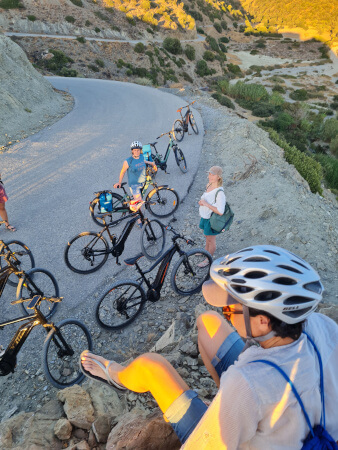
{"label": "standing woman in white top and green shorts, wearing a cap", "polygon": [[[219,166],[213,166],[208,171],[209,183],[201,200],[198,202],[200,205],[199,213],[201,216],[199,227],[203,230],[206,238],[205,249],[214,255],[216,250],[216,236],[220,234],[218,231],[214,231],[210,226],[210,217],[212,213],[224,214],[226,198],[223,190],[222,168]],[[202,261],[199,266],[204,267],[209,264],[206,259]]]}

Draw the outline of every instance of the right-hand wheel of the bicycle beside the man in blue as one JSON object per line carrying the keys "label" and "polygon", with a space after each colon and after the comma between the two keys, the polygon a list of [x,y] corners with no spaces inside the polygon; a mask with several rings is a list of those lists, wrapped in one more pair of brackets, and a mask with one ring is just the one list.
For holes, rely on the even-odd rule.
{"label": "right-hand wheel of the bicycle beside the man in blue", "polygon": [[155,217],[168,217],[174,214],[180,199],[174,189],[159,186],[153,189],[147,195],[146,201],[154,202],[155,204],[146,204],[147,210]]}

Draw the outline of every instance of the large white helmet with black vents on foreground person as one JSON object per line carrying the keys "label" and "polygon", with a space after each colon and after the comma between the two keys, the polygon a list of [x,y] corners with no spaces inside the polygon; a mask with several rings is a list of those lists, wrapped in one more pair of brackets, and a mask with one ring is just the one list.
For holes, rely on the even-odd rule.
{"label": "large white helmet with black vents on foreground person", "polygon": [[310,264],[273,245],[255,245],[219,258],[210,276],[242,305],[289,324],[304,320],[324,291]]}

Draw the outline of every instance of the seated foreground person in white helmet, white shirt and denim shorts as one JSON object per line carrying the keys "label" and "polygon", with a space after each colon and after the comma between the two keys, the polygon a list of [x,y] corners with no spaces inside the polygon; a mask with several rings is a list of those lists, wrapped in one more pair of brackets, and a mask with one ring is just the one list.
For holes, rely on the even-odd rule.
{"label": "seated foreground person in white helmet, white shirt and denim shorts", "polygon": [[[324,416],[322,398],[324,428],[338,440],[338,326],[314,313],[323,293],[317,272],[260,245],[217,259],[210,275],[203,295],[225,319],[215,311],[197,319],[199,351],[219,386],[209,406],[154,353],[123,367],[84,352],[81,370],[121,391],[151,392],[184,449],[300,449]],[[292,380],[307,419],[273,365]]]}

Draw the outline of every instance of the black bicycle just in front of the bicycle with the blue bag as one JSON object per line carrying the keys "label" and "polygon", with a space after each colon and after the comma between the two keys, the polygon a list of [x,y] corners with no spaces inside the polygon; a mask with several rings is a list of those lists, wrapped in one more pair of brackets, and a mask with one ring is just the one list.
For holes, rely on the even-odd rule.
{"label": "black bicycle just in front of the bicycle with the blue bag", "polygon": [[[125,242],[136,222],[140,219],[143,226],[141,231],[141,249],[148,259],[156,259],[160,256],[165,245],[164,227],[158,220],[148,220],[141,209],[131,213],[123,219],[128,219],[119,238],[109,230],[113,225],[104,222],[104,228],[100,233],[85,231],[71,239],[64,252],[67,266],[76,273],[92,273],[100,269],[112,254],[119,264],[119,256],[124,251]],[[104,219],[104,217],[103,217]],[[109,247],[103,233],[107,232],[112,247]]]}

